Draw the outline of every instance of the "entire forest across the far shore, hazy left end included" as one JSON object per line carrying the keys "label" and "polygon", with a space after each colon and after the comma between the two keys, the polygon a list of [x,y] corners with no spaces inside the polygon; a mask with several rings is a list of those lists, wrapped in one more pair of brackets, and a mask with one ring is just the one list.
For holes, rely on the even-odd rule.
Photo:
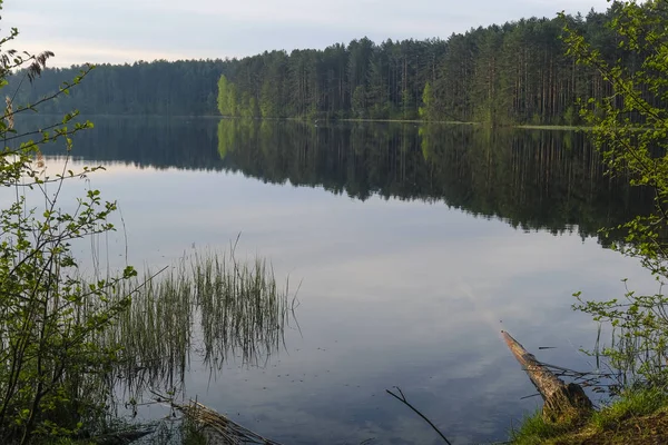
{"label": "entire forest across the far shore, hazy left end included", "polygon": [[[617,8],[521,19],[445,40],[376,44],[362,38],[324,50],[275,50],[242,59],[101,65],[70,97],[42,112],[75,106],[86,115],[577,125],[577,99],[601,98],[610,86],[566,55],[564,21],[606,60],[623,58],[633,69],[639,56],[620,48],[605,24]],[[19,102],[35,101],[80,68],[47,69],[32,83],[14,76],[10,86],[18,88]]]}

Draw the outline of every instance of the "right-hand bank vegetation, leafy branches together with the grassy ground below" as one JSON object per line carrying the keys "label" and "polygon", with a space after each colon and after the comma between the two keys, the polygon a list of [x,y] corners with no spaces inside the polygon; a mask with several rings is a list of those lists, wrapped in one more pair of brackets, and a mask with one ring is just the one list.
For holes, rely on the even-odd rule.
{"label": "right-hand bank vegetation, leafy branches together with the grassy ground below", "polygon": [[629,177],[651,190],[654,211],[615,229],[627,235],[613,248],[637,258],[657,281],[640,294],[627,283],[620,298],[587,299],[574,308],[611,333],[590,353],[606,372],[609,404],[590,418],[551,423],[537,415],[513,433],[515,444],[655,444],[668,439],[668,9],[664,1],[619,2],[608,22],[632,65],[608,61],[588,37],[567,24],[564,42],[578,63],[596,69],[609,86],[602,98],[580,101],[580,115],[603,155],[608,175]]}

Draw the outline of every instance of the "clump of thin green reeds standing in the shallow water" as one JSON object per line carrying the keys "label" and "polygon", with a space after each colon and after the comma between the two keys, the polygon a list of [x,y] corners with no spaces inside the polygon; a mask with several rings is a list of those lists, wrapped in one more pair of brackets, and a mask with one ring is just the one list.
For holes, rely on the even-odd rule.
{"label": "clump of thin green reeds standing in the shallow water", "polygon": [[288,281],[277,285],[265,259],[239,261],[232,253],[196,253],[153,278],[119,284],[130,308],[100,340],[118,347],[117,372],[132,393],[174,390],[197,353],[205,365],[240,359],[255,366],[278,350],[293,317]]}

